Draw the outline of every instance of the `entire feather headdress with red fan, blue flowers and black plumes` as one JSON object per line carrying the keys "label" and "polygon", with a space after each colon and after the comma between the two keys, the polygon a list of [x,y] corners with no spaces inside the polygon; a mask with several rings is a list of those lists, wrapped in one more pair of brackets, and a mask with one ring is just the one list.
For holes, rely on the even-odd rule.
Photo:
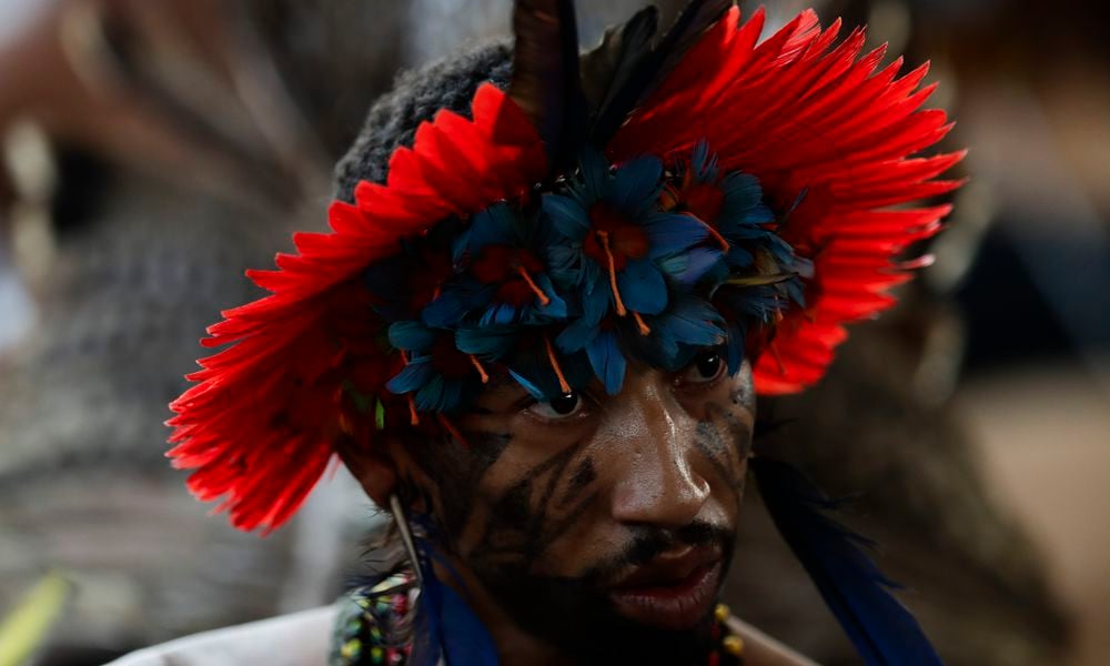
{"label": "entire feather headdress with red fan, blue flowers and black plumes", "polygon": [[918,154],[951,127],[920,110],[926,67],[880,69],[811,11],[761,39],[726,0],[663,34],[645,10],[579,59],[573,13],[517,2],[506,90],[421,123],[209,330],[225,346],[172,404],[170,455],[236,526],[279,526],[337,445],[464,410],[494,373],[618,393],[632,360],[714,347],[789,393],[894,303],[949,211],[914,202],[960,184],[936,179],[962,152]]}

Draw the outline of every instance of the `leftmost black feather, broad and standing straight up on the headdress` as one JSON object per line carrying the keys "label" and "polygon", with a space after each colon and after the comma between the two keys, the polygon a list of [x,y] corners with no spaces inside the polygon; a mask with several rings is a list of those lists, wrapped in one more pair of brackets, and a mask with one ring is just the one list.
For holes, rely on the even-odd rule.
{"label": "leftmost black feather, broad and standing straight up on the headdress", "polygon": [[574,0],[516,0],[513,31],[508,94],[539,132],[557,173],[577,159],[586,123]]}

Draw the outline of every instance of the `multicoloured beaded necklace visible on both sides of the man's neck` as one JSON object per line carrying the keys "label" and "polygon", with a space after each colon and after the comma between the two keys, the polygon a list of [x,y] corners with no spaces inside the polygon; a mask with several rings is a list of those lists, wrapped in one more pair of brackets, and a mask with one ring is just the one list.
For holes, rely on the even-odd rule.
{"label": "multicoloured beaded necklace visible on both sides of the man's neck", "polygon": [[[411,572],[401,572],[344,597],[329,666],[404,666],[412,652],[413,608],[418,588]],[[744,640],[728,628],[728,607],[714,609],[715,648],[707,666],[743,666]]]}

